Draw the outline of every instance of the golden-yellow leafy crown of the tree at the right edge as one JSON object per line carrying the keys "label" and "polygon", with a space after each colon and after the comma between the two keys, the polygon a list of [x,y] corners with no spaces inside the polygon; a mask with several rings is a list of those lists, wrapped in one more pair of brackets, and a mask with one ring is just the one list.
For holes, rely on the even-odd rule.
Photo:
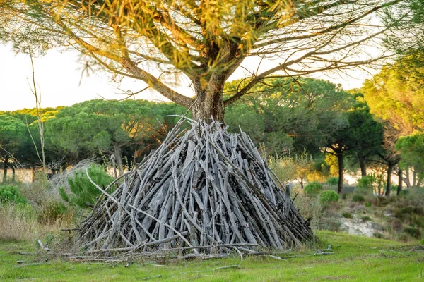
{"label": "golden-yellow leafy crown of the tree at the right edge", "polygon": [[387,64],[362,91],[371,113],[390,121],[400,134],[424,130],[424,51]]}

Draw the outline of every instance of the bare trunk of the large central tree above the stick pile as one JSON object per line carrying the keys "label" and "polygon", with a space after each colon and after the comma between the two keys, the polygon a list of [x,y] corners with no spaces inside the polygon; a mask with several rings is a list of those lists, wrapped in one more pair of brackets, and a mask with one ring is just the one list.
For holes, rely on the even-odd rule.
{"label": "bare trunk of the large central tree above the stick pile", "polygon": [[201,82],[194,83],[196,100],[192,106],[192,113],[195,121],[224,122],[224,83],[224,75],[212,75],[206,88],[202,87]]}

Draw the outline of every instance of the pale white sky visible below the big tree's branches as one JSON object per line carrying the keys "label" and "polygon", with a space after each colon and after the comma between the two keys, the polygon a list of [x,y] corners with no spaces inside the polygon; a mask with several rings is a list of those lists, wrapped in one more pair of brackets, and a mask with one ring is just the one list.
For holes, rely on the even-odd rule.
{"label": "pale white sky visible below the big tree's branches", "polygon": [[[15,54],[10,45],[0,45],[0,111],[15,111],[17,109],[35,107],[35,97],[31,92],[32,68],[30,57],[25,54]],[[246,65],[254,63],[245,62]],[[60,52],[49,50],[45,56],[34,59],[35,82],[37,92],[41,94],[41,106],[71,106],[78,102],[90,99],[123,99],[124,91],[137,92],[145,85],[143,82],[124,78],[120,84],[111,82],[110,75],[104,71],[95,74],[81,75],[83,63],[78,60],[76,51]],[[242,78],[244,71],[240,68],[232,75],[231,79]],[[336,84],[341,83],[348,90],[360,87],[369,73],[364,71],[350,71],[349,77],[330,78],[326,75],[314,75]],[[192,95],[188,85],[181,85],[175,90],[182,94]],[[150,99],[154,101],[167,101],[165,97],[149,90],[136,95],[137,99]]]}

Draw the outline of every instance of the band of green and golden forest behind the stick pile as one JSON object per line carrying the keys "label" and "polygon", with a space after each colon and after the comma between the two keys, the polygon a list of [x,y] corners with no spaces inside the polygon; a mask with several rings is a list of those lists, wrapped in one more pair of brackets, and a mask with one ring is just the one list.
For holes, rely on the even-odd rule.
{"label": "band of green and golden forest behind the stick pile", "polygon": [[[395,184],[420,186],[423,179],[423,53],[411,54],[384,66],[360,90],[311,78],[270,78],[251,94],[230,105],[225,123],[239,126],[260,147],[263,157],[280,173],[283,183],[326,182],[343,173],[372,172],[380,194]],[[225,85],[231,96],[243,80]],[[273,86],[275,85],[275,86]],[[56,173],[84,159],[110,165],[114,155],[119,174],[155,149],[186,114],[174,103],[143,100],[92,100],[69,107],[40,109],[44,126],[45,162]],[[36,109],[0,114],[3,181],[16,168],[40,168],[40,127]],[[11,170],[7,175],[7,169]]]}

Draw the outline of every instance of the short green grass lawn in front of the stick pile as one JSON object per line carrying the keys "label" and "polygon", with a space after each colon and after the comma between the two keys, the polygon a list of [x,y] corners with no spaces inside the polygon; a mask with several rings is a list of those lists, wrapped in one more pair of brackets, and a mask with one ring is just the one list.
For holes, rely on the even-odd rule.
{"label": "short green grass lawn in front of the stick pile", "polygon": [[[298,252],[285,261],[240,257],[178,263],[143,262],[112,265],[76,263],[19,255],[28,243],[0,242],[0,281],[424,281],[424,246],[343,233],[317,233],[332,255]],[[18,261],[25,261],[18,264]],[[239,268],[216,269],[239,264]],[[161,265],[155,265],[161,264]],[[216,270],[213,270],[216,269]]]}

